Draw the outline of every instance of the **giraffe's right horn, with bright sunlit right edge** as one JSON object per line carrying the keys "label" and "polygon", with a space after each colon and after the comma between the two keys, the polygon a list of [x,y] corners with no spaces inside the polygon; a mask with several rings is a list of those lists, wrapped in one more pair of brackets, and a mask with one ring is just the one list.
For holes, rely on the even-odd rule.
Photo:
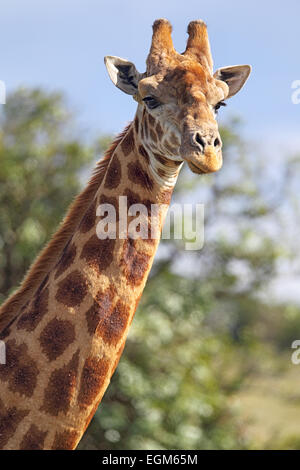
{"label": "giraffe's right horn, with bright sunlit right edge", "polygon": [[207,27],[204,21],[191,21],[188,25],[188,42],[184,54],[193,55],[211,73],[213,60],[210,51]]}

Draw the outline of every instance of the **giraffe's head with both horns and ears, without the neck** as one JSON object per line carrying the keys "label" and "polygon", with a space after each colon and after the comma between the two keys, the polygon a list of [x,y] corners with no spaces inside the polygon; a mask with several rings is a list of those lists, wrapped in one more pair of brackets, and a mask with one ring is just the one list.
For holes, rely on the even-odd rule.
{"label": "giraffe's head with both horns and ears, without the neck", "polygon": [[105,64],[113,83],[139,102],[149,125],[162,130],[156,139],[150,133],[150,147],[170,158],[179,156],[195,173],[214,172],[222,166],[217,111],[243,87],[251,67],[236,65],[213,73],[207,29],[201,20],[189,24],[182,54],[174,49],[171,31],[167,20],[154,22],[145,73],[119,57],[107,56]]}

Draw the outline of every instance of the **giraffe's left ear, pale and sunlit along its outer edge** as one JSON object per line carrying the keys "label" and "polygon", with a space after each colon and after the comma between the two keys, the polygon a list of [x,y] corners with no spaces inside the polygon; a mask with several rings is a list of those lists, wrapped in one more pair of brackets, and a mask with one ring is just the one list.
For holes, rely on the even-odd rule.
{"label": "giraffe's left ear, pale and sunlit along its outer edge", "polygon": [[104,57],[108,74],[117,88],[128,95],[135,95],[138,91],[138,83],[142,74],[137,71],[135,65],[128,60],[107,55]]}

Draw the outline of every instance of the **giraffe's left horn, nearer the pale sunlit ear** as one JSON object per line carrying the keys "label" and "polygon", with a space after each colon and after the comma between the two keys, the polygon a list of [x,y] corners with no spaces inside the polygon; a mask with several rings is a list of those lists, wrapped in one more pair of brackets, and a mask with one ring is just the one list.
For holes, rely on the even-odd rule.
{"label": "giraffe's left horn, nearer the pale sunlit ear", "polygon": [[176,52],[171,36],[172,26],[168,20],[164,18],[155,20],[152,29],[152,43],[147,59],[147,66],[150,69],[155,68],[161,60]]}

